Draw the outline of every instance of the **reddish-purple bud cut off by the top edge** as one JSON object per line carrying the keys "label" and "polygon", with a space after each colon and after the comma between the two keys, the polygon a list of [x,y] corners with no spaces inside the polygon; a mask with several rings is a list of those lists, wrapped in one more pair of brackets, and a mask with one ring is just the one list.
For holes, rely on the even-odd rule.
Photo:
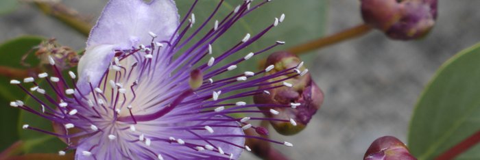
{"label": "reddish-purple bud cut off by the top edge", "polygon": [[437,0],[361,0],[363,21],[390,38],[426,36],[437,19]]}

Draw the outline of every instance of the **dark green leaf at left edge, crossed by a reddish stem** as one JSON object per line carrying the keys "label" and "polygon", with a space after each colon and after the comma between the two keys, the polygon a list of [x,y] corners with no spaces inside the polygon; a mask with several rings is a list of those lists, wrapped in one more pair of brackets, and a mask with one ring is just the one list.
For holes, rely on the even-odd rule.
{"label": "dark green leaf at left edge, crossed by a reddish stem", "polygon": [[[38,45],[43,38],[33,36],[23,36],[8,40],[0,44],[0,64],[1,66],[9,66],[14,68],[25,68],[20,65],[21,57]],[[27,59],[27,62],[35,62],[35,57],[32,56]],[[22,92],[16,85],[10,84],[10,78],[0,76],[0,150],[3,150],[13,144],[19,137],[16,124],[19,115],[19,109],[8,107],[8,103],[14,100],[22,100],[25,93]]]}

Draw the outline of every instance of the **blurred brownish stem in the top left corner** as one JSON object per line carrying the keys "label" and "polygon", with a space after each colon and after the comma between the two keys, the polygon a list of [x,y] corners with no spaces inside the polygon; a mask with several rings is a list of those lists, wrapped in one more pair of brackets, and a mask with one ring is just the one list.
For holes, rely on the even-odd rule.
{"label": "blurred brownish stem in the top left corner", "polygon": [[90,29],[92,25],[85,21],[85,18],[82,18],[77,14],[75,10],[67,8],[67,6],[62,5],[61,3],[47,3],[47,2],[34,2],[36,7],[40,9],[44,14],[52,16],[62,21],[66,25],[69,25],[76,31],[80,32],[84,36],[90,34]]}

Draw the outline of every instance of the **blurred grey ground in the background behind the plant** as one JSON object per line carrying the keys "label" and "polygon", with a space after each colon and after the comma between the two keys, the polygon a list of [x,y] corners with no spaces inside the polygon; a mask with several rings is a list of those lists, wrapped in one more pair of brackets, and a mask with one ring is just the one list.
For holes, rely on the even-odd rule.
{"label": "blurred grey ground in the background behind the plant", "polygon": [[[64,2],[95,19],[106,0]],[[327,33],[361,23],[359,1],[330,0],[330,5]],[[437,26],[424,40],[398,42],[372,31],[319,51],[317,66],[310,68],[325,103],[302,133],[274,135],[295,145],[278,148],[291,159],[361,159],[376,137],[394,135],[406,142],[413,105],[435,70],[480,40],[476,6],[480,1],[440,1]],[[56,37],[75,49],[86,40],[27,5],[0,16],[0,31],[0,41],[34,34]],[[242,159],[256,158],[243,154]]]}

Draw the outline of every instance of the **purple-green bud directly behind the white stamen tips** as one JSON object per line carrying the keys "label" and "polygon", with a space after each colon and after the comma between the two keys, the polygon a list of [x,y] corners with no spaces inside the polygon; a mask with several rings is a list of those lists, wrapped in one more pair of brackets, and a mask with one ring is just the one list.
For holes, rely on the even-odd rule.
{"label": "purple-green bud directly behind the white stamen tips", "polygon": [[[296,68],[300,64],[300,58],[288,52],[276,52],[267,58],[265,66],[274,65],[275,67],[269,72],[265,73],[265,76],[275,74],[280,70],[287,68]],[[304,66],[298,68],[300,72],[306,70]],[[275,118],[283,121],[270,121],[274,129],[283,135],[293,135],[302,131],[309,123],[312,116],[320,109],[322,105],[324,95],[320,88],[311,80],[310,74],[304,74],[300,76],[297,72],[289,75],[283,75],[277,79],[270,79],[271,81],[278,81],[286,77],[293,77],[286,81],[272,83],[269,85],[262,85],[259,89],[272,88],[272,86],[283,85],[283,82],[293,84],[291,87],[280,87],[267,90],[264,94],[257,94],[254,96],[254,103],[256,104],[275,104],[275,105],[287,105],[291,107],[259,107],[262,111],[265,111],[265,116],[268,118]],[[292,105],[294,104],[294,105]],[[278,111],[278,114],[272,113],[270,109]]]}

